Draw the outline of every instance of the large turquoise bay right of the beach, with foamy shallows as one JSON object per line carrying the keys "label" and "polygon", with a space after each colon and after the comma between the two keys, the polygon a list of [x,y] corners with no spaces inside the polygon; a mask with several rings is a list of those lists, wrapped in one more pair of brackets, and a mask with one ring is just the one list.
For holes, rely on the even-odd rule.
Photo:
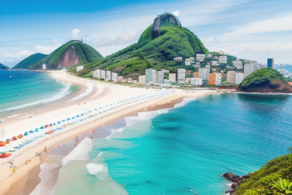
{"label": "large turquoise bay right of the beach, with foamy shallows", "polygon": [[245,175],[287,153],[291,116],[292,96],[275,94],[209,95],[142,112],[109,126],[106,138],[64,144],[74,150],[59,163],[49,154],[31,194],[224,194],[222,174]]}

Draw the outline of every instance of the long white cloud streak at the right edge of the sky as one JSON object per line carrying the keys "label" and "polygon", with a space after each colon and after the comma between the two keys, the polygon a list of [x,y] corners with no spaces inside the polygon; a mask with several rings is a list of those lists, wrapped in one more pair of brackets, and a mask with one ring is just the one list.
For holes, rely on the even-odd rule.
{"label": "long white cloud streak at the right edge of the sky", "polygon": [[278,32],[292,30],[292,14],[288,16],[268,20],[253,21],[247,24],[230,27],[233,31],[227,32],[225,36],[250,35],[257,33]]}

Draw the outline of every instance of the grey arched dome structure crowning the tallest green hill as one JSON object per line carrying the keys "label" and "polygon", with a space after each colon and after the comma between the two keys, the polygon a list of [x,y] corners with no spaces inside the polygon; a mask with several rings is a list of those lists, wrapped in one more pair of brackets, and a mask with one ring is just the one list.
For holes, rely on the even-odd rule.
{"label": "grey arched dome structure crowning the tallest green hill", "polygon": [[160,36],[160,27],[161,26],[179,26],[181,27],[180,21],[178,18],[171,14],[171,13],[164,13],[161,15],[158,15],[154,19],[154,23],[152,26],[152,32],[151,32],[151,40],[154,40]]}

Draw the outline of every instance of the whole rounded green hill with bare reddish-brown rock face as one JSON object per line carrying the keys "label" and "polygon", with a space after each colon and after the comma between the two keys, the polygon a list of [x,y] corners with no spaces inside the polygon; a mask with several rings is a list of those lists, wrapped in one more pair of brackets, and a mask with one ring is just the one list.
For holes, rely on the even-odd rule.
{"label": "whole rounded green hill with bare reddish-brown rock face", "polygon": [[73,40],[62,45],[44,59],[32,64],[29,69],[42,69],[43,64],[46,64],[47,69],[70,68],[101,58],[102,55],[94,48],[81,41]]}

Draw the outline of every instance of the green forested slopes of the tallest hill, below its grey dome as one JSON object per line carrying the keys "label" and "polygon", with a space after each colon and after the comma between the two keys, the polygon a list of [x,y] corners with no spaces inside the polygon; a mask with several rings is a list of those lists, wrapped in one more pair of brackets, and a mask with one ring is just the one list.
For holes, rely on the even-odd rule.
{"label": "green forested slopes of the tallest hill, below its grey dome", "polygon": [[[181,64],[174,61],[174,57],[189,58],[195,57],[197,52],[208,52],[197,36],[187,28],[161,26],[160,36],[152,41],[151,29],[152,25],[143,32],[138,43],[99,61],[85,64],[85,70],[78,74],[85,76],[93,70],[102,69],[137,79],[138,75],[144,75],[145,69],[149,68],[176,72],[177,66]],[[76,70],[71,72],[76,73]]]}

